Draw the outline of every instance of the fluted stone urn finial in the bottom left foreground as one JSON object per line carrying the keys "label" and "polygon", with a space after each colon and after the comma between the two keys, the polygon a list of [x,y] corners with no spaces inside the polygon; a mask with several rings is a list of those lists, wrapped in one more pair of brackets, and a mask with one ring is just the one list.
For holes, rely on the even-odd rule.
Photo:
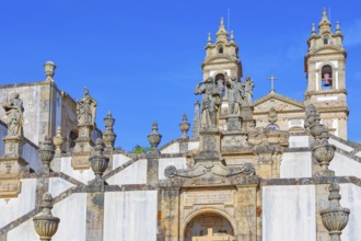
{"label": "fluted stone urn finial in the bottom left foreground", "polygon": [[43,209],[40,214],[33,218],[35,231],[40,237],[40,241],[50,241],[51,237],[57,232],[60,222],[60,219],[51,214],[51,194],[44,194],[40,207]]}

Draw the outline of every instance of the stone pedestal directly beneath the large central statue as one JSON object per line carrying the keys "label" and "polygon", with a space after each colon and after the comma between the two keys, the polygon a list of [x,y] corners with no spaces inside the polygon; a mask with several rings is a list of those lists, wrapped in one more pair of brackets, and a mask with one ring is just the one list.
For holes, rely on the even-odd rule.
{"label": "stone pedestal directly beneath the large central statue", "polygon": [[195,157],[195,161],[219,161],[221,131],[218,128],[208,128],[200,130],[199,134],[199,153]]}

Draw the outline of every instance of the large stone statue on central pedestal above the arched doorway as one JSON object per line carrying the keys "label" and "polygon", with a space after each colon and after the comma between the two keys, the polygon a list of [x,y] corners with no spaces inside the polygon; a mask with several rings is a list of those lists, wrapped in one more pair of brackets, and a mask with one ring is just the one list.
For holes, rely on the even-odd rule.
{"label": "large stone statue on central pedestal above the arched doorway", "polygon": [[222,90],[218,87],[213,78],[208,78],[197,84],[195,94],[203,94],[201,101],[201,129],[217,127],[220,104],[222,102]]}

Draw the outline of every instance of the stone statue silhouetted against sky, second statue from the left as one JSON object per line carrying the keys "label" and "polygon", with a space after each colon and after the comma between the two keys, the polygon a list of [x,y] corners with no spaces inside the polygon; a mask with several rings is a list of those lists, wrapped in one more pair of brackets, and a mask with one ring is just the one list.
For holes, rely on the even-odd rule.
{"label": "stone statue silhouetted against sky, second statue from the left", "polygon": [[96,101],[84,88],[84,96],[77,104],[78,125],[93,126],[95,123]]}

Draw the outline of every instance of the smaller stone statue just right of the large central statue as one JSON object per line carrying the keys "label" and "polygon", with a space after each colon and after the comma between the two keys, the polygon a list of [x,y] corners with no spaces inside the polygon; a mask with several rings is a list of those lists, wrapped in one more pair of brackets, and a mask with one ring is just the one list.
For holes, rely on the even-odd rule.
{"label": "smaller stone statue just right of the large central statue", "polygon": [[229,114],[240,114],[241,104],[244,99],[244,89],[236,78],[226,80],[228,85],[228,97],[229,97]]}

